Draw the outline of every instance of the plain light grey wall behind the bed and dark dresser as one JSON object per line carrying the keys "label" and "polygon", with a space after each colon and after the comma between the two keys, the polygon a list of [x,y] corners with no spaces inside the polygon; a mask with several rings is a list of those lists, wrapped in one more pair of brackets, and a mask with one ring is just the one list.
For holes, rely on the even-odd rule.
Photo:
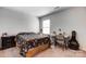
{"label": "plain light grey wall behind the bed and dark dresser", "polygon": [[39,31],[39,21],[33,15],[0,8],[0,35],[2,33],[17,34],[21,31]]}

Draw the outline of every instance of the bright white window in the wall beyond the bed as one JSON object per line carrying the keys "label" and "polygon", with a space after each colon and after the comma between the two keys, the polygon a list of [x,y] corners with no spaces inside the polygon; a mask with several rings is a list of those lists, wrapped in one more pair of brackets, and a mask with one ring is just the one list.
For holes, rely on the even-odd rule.
{"label": "bright white window in the wall beyond the bed", "polygon": [[42,21],[42,34],[50,34],[50,20]]}

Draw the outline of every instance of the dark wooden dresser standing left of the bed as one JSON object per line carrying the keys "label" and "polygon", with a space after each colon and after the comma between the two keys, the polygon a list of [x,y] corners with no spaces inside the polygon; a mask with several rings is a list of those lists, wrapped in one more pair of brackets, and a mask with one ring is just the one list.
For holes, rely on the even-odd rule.
{"label": "dark wooden dresser standing left of the bed", "polygon": [[15,47],[16,43],[14,41],[15,36],[7,36],[7,37],[1,37],[1,49],[8,49]]}

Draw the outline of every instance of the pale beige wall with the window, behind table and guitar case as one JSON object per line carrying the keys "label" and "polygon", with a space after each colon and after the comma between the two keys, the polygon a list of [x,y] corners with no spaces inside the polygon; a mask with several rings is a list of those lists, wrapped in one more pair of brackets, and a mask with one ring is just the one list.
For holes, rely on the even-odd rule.
{"label": "pale beige wall with the window, behind table and guitar case", "polygon": [[61,28],[71,35],[72,30],[76,30],[81,49],[86,50],[86,8],[69,8],[52,15],[41,17],[40,24],[46,18],[51,21],[51,31],[56,30],[58,33],[58,28]]}

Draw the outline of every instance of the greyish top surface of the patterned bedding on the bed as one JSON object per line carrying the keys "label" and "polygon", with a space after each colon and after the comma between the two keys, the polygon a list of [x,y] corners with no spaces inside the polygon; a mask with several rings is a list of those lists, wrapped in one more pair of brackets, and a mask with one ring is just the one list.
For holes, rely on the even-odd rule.
{"label": "greyish top surface of the patterned bedding on the bed", "polygon": [[16,35],[16,42],[17,42],[17,44],[22,44],[28,40],[39,39],[42,37],[47,37],[47,36],[35,34],[35,33],[20,33]]}

